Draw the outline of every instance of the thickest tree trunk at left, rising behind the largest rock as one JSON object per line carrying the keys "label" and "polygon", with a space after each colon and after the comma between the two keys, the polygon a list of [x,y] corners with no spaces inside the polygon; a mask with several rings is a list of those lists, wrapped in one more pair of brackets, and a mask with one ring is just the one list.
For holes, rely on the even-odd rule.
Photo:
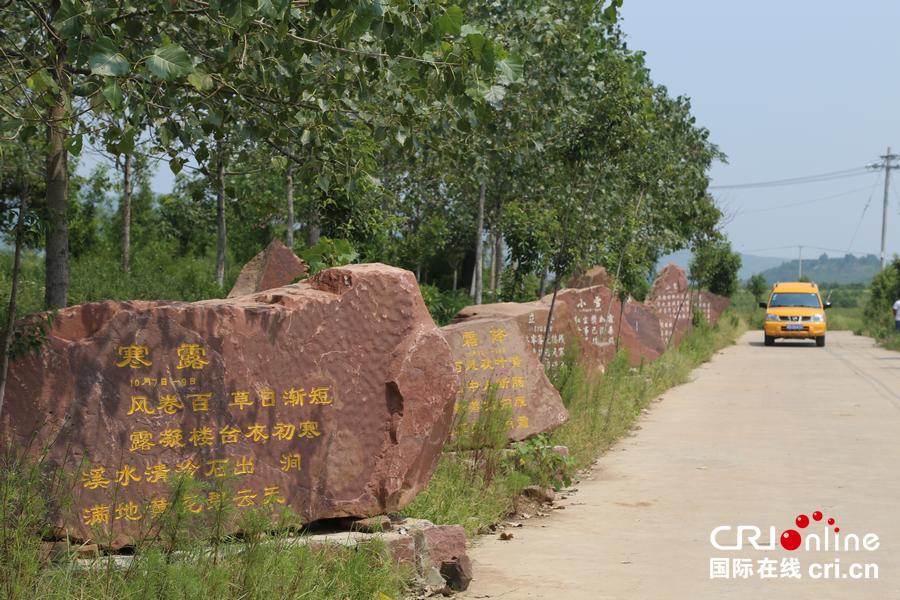
{"label": "thickest tree trunk at left, rising behind the largest rock", "polygon": [[[55,64],[52,67],[52,76],[61,89],[65,89],[69,82],[69,75],[64,66],[66,51],[66,45],[60,44],[53,58]],[[51,120],[47,126],[49,154],[44,172],[47,212],[50,220],[44,260],[46,271],[44,307],[48,310],[65,308],[69,299],[69,152],[63,145],[65,131],[61,119],[66,116],[66,108],[62,95],[53,96],[49,114]]]}

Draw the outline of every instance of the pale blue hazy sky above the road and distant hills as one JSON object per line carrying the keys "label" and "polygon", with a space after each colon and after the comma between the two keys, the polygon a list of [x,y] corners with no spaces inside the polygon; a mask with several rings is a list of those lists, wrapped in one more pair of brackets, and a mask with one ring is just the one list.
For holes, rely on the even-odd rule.
{"label": "pale blue hazy sky above the road and distant hills", "polygon": [[[900,154],[897,0],[625,0],[621,12],[654,82],[690,97],[697,123],[728,155],[712,185],[847,171],[881,162],[888,146]],[[883,173],[712,191],[737,215],[725,229],[740,252],[795,258],[803,245],[809,258],[822,253],[812,246],[878,254]],[[893,173],[889,258],[900,253]],[[788,206],[801,202],[809,203]],[[793,248],[762,250],[781,246]]]}

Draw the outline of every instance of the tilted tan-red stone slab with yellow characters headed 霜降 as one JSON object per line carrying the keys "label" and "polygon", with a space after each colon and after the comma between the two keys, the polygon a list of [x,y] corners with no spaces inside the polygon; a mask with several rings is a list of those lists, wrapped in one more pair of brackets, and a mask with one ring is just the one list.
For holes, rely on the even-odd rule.
{"label": "tilted tan-red stone slab with yellow characters headed \u971c\u964d", "polygon": [[456,412],[466,415],[460,428],[471,427],[491,398],[512,411],[506,422],[511,441],[528,439],[569,420],[559,392],[515,319],[468,320],[441,327],[441,333],[459,373]]}

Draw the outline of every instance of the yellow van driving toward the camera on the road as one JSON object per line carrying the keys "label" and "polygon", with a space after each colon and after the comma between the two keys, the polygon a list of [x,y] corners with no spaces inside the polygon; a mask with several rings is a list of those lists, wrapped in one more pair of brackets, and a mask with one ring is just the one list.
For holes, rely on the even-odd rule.
{"label": "yellow van driving toward the camera on the road", "polygon": [[766,346],[773,346],[775,338],[815,339],[816,346],[825,345],[825,309],[830,302],[822,302],[819,286],[814,283],[776,283],[769,302],[760,302],[766,309]]}

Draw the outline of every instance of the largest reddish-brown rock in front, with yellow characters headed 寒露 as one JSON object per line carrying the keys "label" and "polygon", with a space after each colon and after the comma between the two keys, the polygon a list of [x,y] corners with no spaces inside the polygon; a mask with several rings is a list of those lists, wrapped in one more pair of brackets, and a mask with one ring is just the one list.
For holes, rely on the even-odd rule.
{"label": "largest reddish-brown rock in front, with yellow characters headed \u5bd2\u9732", "polygon": [[238,508],[367,517],[427,484],[457,384],[413,274],[352,265],[234,300],[61,310],[49,347],[11,368],[0,443],[50,415],[48,466],[78,481],[64,525],[111,530],[113,548],[163,510],[178,472],[233,477]]}

